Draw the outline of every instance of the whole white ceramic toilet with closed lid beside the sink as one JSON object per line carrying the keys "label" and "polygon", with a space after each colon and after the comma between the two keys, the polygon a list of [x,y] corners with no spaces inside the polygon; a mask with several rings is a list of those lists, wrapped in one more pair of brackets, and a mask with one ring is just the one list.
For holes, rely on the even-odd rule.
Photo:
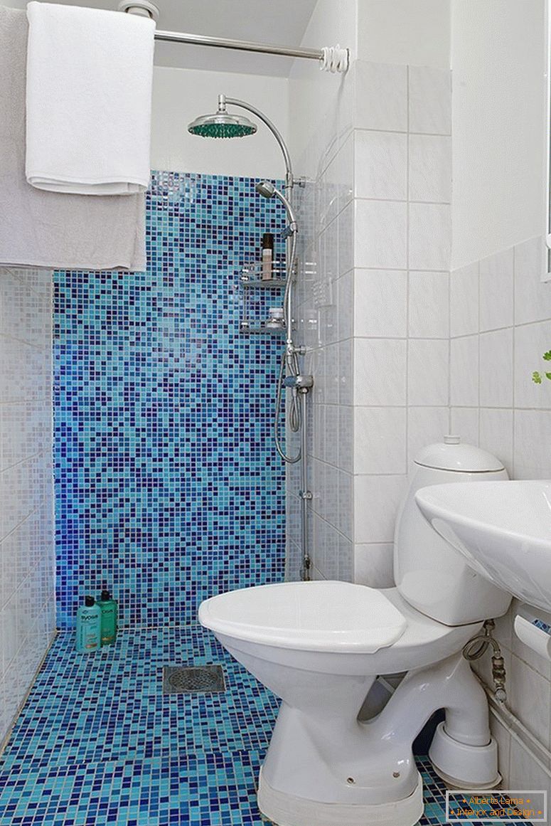
{"label": "whole white ceramic toilet with closed lid beside the sink", "polygon": [[[258,789],[261,812],[278,826],[416,824],[423,802],[412,743],[440,708],[445,723],[430,752],[440,776],[469,790],[499,781],[486,695],[461,649],[511,596],[467,567],[413,496],[506,478],[497,458],[446,437],[416,459],[397,520],[395,588],[285,582],[200,605],[200,623],[283,700]],[[407,675],[370,716],[377,677],[399,672]]]}

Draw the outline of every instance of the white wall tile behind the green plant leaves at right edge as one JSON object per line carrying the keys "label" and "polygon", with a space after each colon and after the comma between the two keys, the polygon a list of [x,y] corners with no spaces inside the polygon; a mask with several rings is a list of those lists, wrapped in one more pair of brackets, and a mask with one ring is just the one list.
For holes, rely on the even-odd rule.
{"label": "white wall tile behind the green plant leaves at right edge", "polygon": [[[551,409],[551,361],[544,353],[551,349],[551,321],[524,325],[515,329],[515,406]],[[532,373],[538,371],[541,384],[535,384]]]}

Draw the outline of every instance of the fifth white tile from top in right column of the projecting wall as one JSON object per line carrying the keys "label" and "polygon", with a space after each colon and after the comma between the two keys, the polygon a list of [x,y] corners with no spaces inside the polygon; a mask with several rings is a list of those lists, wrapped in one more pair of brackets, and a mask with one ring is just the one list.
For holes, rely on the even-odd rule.
{"label": "fifth white tile from top in right column of the projecting wall", "polygon": [[407,342],[408,405],[447,405],[449,368],[447,339],[410,339]]}

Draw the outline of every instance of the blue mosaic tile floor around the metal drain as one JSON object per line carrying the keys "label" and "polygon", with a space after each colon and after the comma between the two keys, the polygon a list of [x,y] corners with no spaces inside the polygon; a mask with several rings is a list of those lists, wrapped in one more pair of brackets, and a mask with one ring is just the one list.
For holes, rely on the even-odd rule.
{"label": "blue mosaic tile floor around the metal drain", "polygon": [[[212,662],[224,693],[162,694],[163,665]],[[60,634],[0,760],[0,824],[261,826],[256,777],[277,710],[196,626],[123,631],[92,655]],[[444,786],[419,768],[420,826],[444,824]]]}

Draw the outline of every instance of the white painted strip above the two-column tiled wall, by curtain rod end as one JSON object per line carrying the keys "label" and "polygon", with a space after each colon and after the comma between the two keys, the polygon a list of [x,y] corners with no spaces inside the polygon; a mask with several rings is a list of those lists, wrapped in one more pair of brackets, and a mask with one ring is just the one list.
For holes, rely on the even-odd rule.
{"label": "white painted strip above the two-column tiled wall, by curtain rod end", "polygon": [[450,69],[450,0],[360,0],[358,57]]}

